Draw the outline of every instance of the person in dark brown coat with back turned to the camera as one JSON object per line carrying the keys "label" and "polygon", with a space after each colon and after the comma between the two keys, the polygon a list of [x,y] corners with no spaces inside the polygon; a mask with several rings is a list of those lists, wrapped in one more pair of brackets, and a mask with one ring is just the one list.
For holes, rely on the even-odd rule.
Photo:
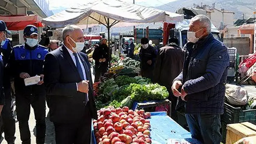
{"label": "person in dark brown coat with back turned to the camera", "polygon": [[171,101],[171,118],[177,121],[175,110],[177,97],[171,92],[172,81],[183,69],[185,51],[179,47],[177,38],[170,38],[169,44],[160,48],[159,55],[155,63],[153,82],[165,86],[169,92],[168,99]]}

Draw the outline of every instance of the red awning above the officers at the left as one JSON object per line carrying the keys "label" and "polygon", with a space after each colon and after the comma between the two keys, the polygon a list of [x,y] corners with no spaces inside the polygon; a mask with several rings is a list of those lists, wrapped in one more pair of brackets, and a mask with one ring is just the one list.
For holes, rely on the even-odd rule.
{"label": "red awning above the officers at the left", "polygon": [[0,16],[3,20],[8,30],[24,30],[27,25],[34,25],[36,27],[43,27],[41,20],[42,18],[37,15],[10,15],[10,16]]}

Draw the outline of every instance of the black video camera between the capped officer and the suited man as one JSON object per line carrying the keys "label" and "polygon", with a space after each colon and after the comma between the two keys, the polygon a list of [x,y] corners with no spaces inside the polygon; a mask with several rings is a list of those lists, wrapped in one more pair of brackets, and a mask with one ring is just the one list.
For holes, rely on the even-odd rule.
{"label": "black video camera between the capped officer and the suited man", "polygon": [[56,27],[47,26],[43,28],[43,32],[41,34],[41,40],[39,42],[40,45],[48,47],[48,45],[50,44],[49,37],[53,36],[53,32],[50,30],[56,30]]}

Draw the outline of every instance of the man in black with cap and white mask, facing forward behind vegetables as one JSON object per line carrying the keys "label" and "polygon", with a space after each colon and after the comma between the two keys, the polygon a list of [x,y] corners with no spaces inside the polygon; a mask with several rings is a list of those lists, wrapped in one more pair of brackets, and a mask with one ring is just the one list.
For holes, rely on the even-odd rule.
{"label": "man in black with cap and white mask, facing forward behind vegetables", "polygon": [[153,70],[155,66],[155,59],[157,58],[157,49],[149,45],[148,38],[141,39],[141,49],[140,49],[140,68],[141,76],[153,79]]}

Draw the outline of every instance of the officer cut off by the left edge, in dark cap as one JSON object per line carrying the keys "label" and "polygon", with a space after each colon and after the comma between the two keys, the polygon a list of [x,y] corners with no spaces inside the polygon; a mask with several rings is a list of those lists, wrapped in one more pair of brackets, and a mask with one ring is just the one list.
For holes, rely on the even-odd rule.
{"label": "officer cut off by the left edge, in dark cap", "polygon": [[13,115],[12,96],[10,90],[9,67],[7,66],[10,53],[12,51],[12,44],[10,43],[10,40],[6,38],[7,33],[10,34],[10,31],[7,30],[5,22],[0,21],[0,53],[3,57],[3,86],[5,96],[5,105],[2,112],[3,126],[1,127],[1,134],[4,132],[4,137],[8,144],[14,144],[15,119]]}

